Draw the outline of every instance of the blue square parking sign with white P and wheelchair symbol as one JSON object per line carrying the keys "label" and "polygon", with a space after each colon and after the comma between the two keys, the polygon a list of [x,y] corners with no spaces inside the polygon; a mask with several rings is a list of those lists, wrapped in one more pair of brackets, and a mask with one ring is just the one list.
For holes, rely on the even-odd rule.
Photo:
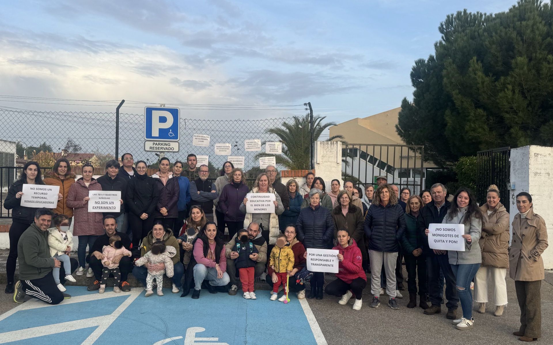
{"label": "blue square parking sign with white P and wheelchair symbol", "polygon": [[145,107],[144,139],[179,140],[179,108]]}

